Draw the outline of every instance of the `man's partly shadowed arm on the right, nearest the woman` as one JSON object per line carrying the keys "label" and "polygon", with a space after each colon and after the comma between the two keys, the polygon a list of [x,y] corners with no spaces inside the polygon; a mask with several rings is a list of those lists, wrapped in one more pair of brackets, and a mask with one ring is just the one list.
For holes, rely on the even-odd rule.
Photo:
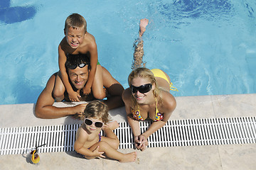
{"label": "man's partly shadowed arm on the right, nearest the woman", "polygon": [[124,91],[124,87],[112,77],[105,67],[102,67],[102,69],[103,86],[107,89],[107,93],[110,94],[110,97],[105,101],[109,110],[124,106],[124,102],[122,101],[122,92]]}

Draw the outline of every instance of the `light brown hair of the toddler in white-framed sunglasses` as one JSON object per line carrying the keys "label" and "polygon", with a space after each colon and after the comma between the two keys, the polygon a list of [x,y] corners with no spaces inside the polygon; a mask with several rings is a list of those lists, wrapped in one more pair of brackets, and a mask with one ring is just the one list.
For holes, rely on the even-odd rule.
{"label": "light brown hair of the toddler in white-framed sunglasses", "polygon": [[85,118],[102,118],[103,123],[110,121],[108,107],[102,101],[92,101],[85,108]]}

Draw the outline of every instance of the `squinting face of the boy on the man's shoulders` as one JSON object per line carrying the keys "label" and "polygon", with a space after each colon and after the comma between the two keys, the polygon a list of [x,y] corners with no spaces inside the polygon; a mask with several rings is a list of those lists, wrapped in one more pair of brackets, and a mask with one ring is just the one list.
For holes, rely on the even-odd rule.
{"label": "squinting face of the boy on the man's shoulders", "polygon": [[65,31],[65,37],[68,42],[68,45],[72,48],[78,48],[82,44],[85,38],[85,29],[84,28],[67,28]]}

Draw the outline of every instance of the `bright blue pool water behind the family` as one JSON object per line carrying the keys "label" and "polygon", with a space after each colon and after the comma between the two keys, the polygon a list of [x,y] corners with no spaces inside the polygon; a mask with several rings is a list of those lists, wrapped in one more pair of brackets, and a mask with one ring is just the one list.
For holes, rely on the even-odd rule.
{"label": "bright blue pool water behind the family", "polygon": [[149,18],[144,61],[169,74],[174,96],[256,93],[255,0],[1,0],[0,104],[36,103],[58,71],[65,18],[75,12],[124,88],[139,19]]}

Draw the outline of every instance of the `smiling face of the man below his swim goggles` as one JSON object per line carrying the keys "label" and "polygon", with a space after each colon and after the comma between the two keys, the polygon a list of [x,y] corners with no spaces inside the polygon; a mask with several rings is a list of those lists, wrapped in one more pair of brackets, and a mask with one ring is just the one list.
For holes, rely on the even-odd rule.
{"label": "smiling face of the man below his swim goggles", "polygon": [[75,69],[68,69],[68,76],[76,89],[82,89],[85,86],[88,74],[88,65],[82,68],[76,67]]}

